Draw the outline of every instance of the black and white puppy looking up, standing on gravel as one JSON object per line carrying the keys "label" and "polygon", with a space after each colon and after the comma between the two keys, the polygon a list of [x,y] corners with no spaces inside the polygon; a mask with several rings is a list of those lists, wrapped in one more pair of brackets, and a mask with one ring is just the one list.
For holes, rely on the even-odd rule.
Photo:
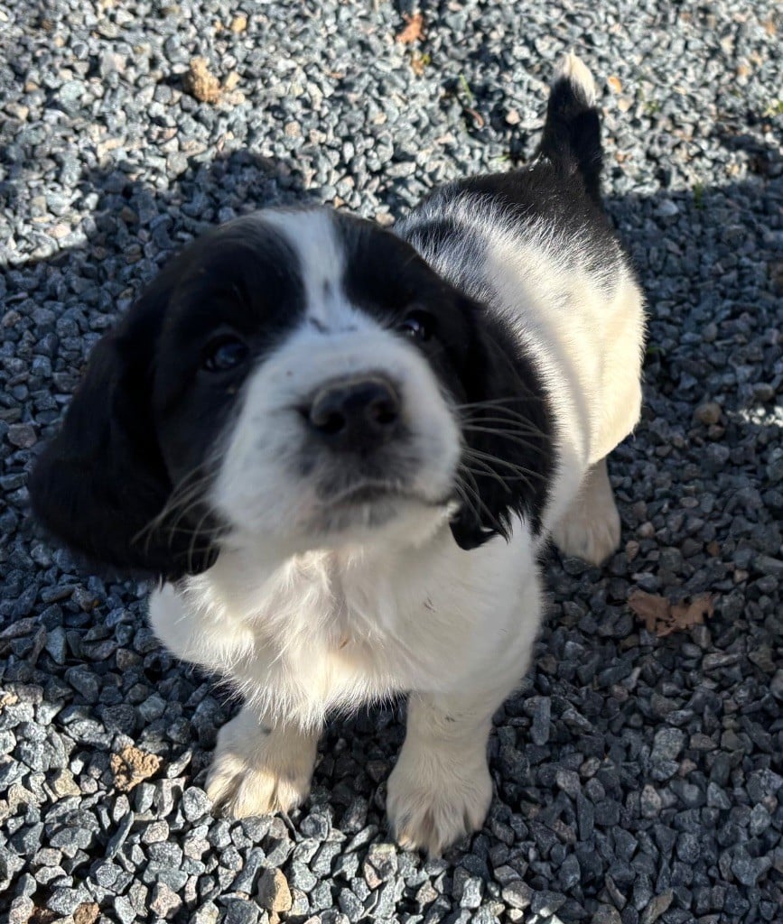
{"label": "black and white puppy looking up, standing on gravel", "polygon": [[407,693],[399,843],[482,825],[536,556],[554,535],[600,563],[619,540],[606,455],[639,417],[643,311],[600,169],[568,55],[526,169],[440,188],[394,233],[239,218],[95,347],[32,504],[80,553],[160,578],[159,638],[244,695],[207,781],[233,814],[298,805],[326,715]]}

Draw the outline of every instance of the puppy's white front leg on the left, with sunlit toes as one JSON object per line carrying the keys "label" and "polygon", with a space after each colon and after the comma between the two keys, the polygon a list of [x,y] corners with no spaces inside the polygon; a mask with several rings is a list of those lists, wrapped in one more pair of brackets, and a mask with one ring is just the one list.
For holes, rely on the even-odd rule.
{"label": "puppy's white front leg on the left, with sunlit toes", "polygon": [[249,706],[217,735],[206,791],[235,818],[296,808],[310,792],[317,731],[281,725]]}

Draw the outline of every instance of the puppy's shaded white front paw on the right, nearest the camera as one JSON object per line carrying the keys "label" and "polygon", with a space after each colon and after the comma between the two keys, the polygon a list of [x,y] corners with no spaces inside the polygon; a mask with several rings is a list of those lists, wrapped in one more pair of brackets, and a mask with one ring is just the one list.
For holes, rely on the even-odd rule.
{"label": "puppy's shaded white front paw on the right, nearest the camera", "polygon": [[482,827],[491,801],[483,754],[460,763],[434,749],[403,747],[389,777],[386,814],[400,846],[439,857]]}

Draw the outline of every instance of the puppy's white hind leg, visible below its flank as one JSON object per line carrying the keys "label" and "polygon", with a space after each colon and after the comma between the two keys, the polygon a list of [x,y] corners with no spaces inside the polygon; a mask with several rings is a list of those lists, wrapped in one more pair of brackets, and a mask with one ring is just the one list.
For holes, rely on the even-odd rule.
{"label": "puppy's white hind leg, visible below its flank", "polygon": [[561,552],[576,555],[591,565],[602,565],[617,551],[620,515],[609,484],[606,458],[588,470],[579,494],[553,530],[552,538]]}

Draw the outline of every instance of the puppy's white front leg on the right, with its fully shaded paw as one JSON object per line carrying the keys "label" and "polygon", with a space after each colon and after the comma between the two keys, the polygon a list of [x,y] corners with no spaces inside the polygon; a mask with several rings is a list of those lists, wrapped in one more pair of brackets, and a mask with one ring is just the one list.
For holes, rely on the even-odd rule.
{"label": "puppy's white front leg on the right, with its fully shaded paw", "polygon": [[481,828],[492,800],[487,739],[507,693],[411,695],[405,743],[386,797],[401,846],[437,857]]}

